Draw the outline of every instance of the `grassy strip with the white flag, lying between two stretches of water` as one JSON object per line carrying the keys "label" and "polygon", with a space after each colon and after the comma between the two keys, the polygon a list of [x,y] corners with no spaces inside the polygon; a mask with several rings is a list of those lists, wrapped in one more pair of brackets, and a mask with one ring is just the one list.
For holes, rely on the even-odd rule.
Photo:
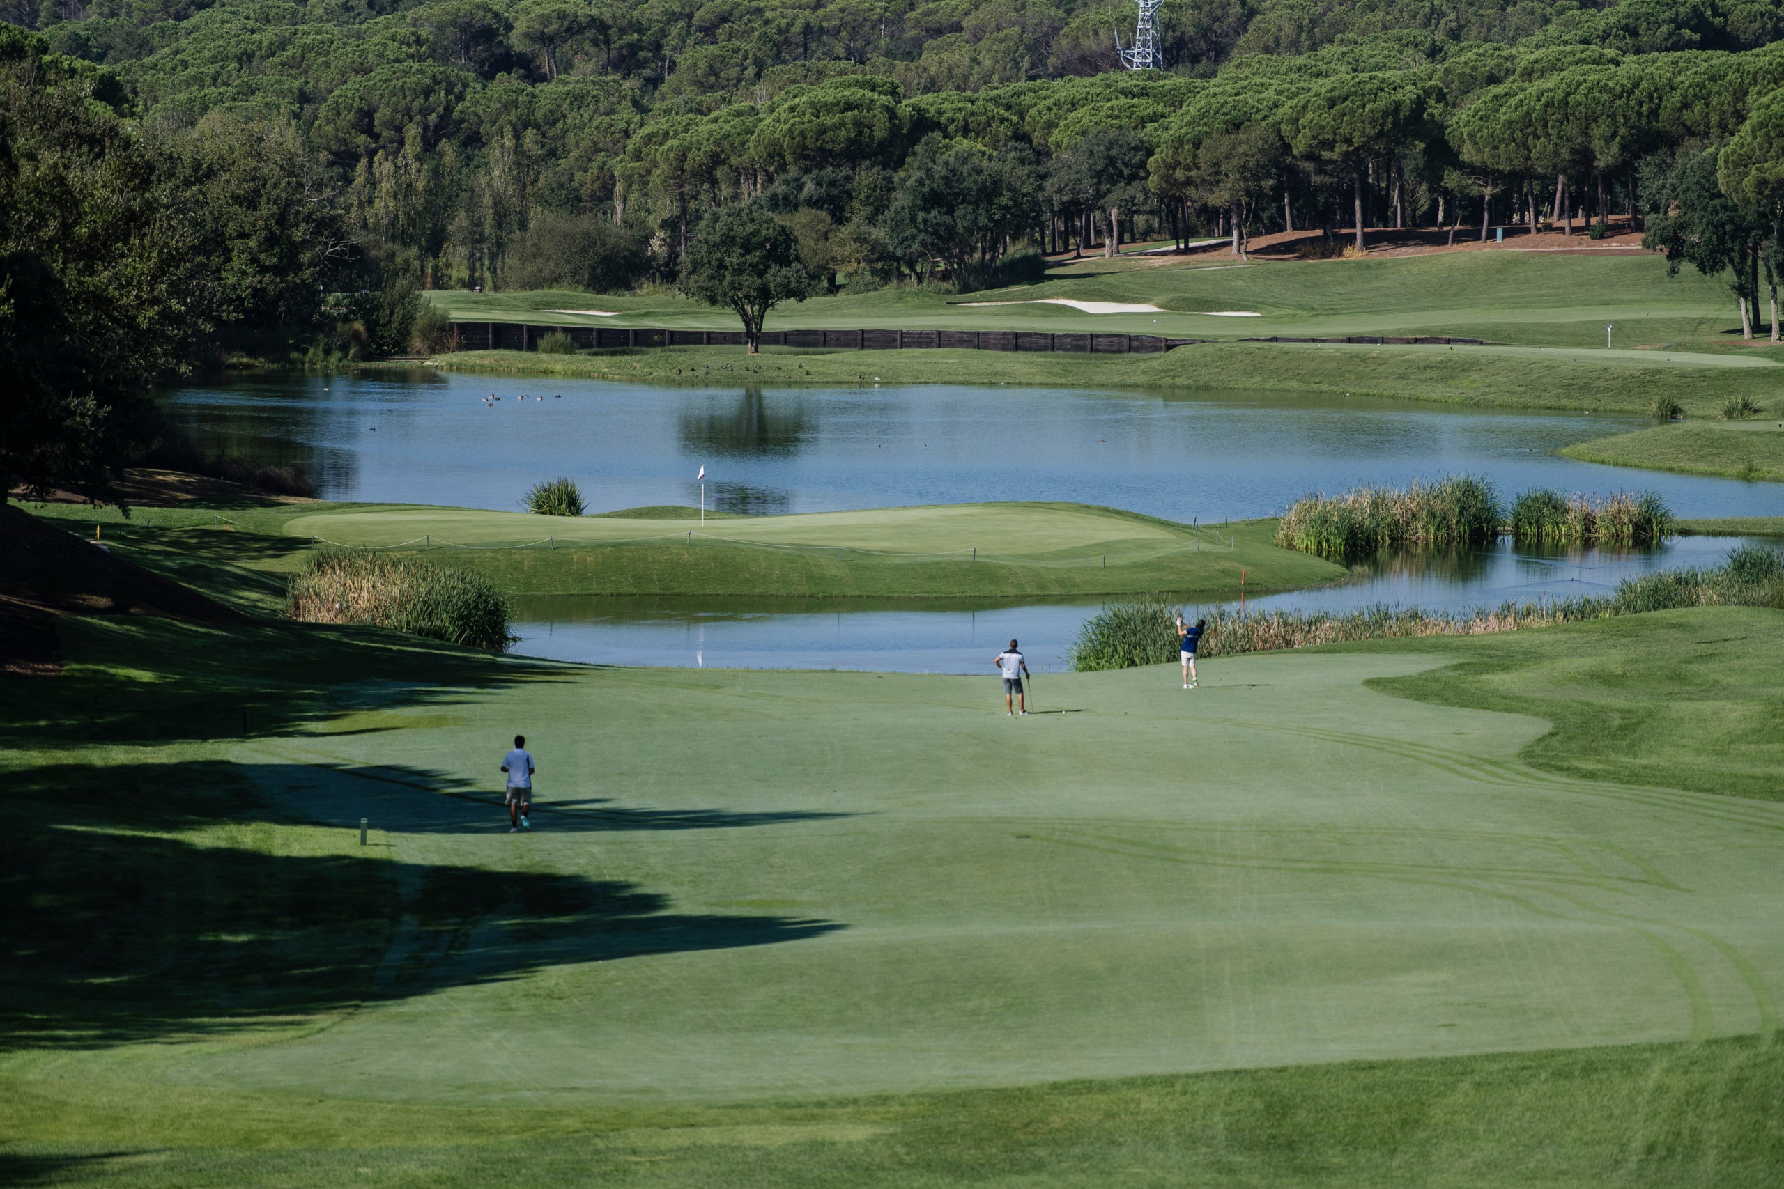
{"label": "grassy strip with the white flag, lying between two stretches of water", "polygon": [[[145,565],[277,611],[285,576],[316,547],[398,545],[507,594],[1017,597],[1170,590],[1290,590],[1349,570],[1274,544],[1276,521],[1202,529],[1090,504],[946,504],[780,517],[642,508],[642,515],[541,517],[421,504],[310,503],[139,512],[36,508],[103,522]],[[219,517],[212,522],[212,517]],[[312,545],[314,538],[314,545]],[[510,549],[505,545],[526,545]],[[976,551],[976,556],[974,556]],[[239,570],[239,572],[237,572]]]}

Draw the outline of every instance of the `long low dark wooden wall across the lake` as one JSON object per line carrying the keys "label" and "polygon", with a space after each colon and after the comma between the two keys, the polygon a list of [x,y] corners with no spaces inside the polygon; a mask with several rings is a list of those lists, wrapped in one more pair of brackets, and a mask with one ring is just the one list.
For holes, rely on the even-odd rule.
{"label": "long low dark wooden wall across the lake", "polygon": [[[562,332],[578,348],[685,348],[744,346],[740,330],[633,330],[619,326],[530,326],[524,323],[453,323],[460,351],[535,351],[539,339]],[[969,351],[1072,351],[1078,355],[1126,355],[1169,351],[1202,339],[1160,335],[1054,335],[1029,330],[765,330],[762,346],[844,348],[899,351],[912,348],[962,348]],[[1458,339],[1461,342],[1461,339]]]}

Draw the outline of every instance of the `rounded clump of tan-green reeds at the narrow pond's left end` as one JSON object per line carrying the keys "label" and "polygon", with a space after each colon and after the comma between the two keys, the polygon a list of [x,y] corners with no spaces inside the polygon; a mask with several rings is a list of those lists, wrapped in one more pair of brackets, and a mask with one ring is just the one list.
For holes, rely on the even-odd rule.
{"label": "rounded clump of tan-green reeds at the narrow pond's left end", "polygon": [[291,578],[289,613],[496,651],[508,647],[514,617],[507,595],[482,574],[364,549],[312,556]]}

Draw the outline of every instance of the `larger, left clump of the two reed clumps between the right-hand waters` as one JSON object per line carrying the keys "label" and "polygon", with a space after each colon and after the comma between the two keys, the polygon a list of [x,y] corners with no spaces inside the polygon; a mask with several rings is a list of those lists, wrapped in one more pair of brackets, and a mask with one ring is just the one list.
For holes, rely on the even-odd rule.
{"label": "larger, left clump of the two reed clumps between the right-hand waters", "polygon": [[1474,545],[1499,533],[1491,481],[1472,474],[1411,487],[1358,487],[1343,496],[1308,496],[1283,515],[1276,544],[1333,562],[1404,545]]}

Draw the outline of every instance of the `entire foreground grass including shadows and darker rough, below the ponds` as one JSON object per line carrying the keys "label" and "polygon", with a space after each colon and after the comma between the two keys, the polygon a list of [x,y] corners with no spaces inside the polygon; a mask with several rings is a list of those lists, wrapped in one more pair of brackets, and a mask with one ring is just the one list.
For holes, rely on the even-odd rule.
{"label": "entire foreground grass including shadows and darker rough, below the ponds", "polygon": [[1763,1184],[1780,626],[1045,676],[1008,718],[990,676],[68,619],[0,685],[0,1171]]}

